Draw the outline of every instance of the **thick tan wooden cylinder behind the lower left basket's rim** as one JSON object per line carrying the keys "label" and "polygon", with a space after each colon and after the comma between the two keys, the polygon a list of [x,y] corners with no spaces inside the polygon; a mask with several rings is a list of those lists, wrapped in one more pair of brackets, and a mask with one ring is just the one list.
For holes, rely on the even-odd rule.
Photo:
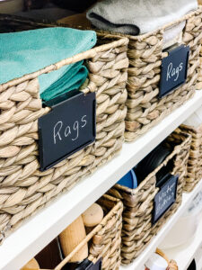
{"label": "thick tan wooden cylinder behind the lower left basket's rim", "polygon": [[[64,253],[64,256],[68,256],[75,247],[86,237],[85,228],[83,224],[82,216],[79,216],[72,224],[70,224],[59,235],[60,244]],[[69,262],[78,263],[82,262],[88,257],[88,244],[85,244]]]}

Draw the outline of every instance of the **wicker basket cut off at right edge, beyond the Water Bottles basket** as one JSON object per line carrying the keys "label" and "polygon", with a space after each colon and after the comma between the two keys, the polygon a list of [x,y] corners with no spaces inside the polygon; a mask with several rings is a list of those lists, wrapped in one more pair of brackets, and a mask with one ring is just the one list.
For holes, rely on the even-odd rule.
{"label": "wicker basket cut off at right edge, beyond the Water Bottles basket", "polygon": [[184,191],[191,192],[202,178],[202,125],[195,129],[187,125],[180,125],[183,132],[188,132],[191,139],[191,147],[188,159],[188,175]]}

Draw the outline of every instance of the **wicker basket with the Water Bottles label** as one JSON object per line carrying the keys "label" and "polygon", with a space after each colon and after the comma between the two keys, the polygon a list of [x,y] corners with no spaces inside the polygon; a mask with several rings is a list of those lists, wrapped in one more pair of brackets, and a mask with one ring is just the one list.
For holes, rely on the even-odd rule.
{"label": "wicker basket with the Water Bottles label", "polygon": [[[189,157],[191,136],[176,130],[165,140],[173,148],[171,155],[166,157],[161,166],[148,175],[136,189],[130,189],[119,184],[110,189],[110,194],[122,200],[123,229],[122,229],[122,264],[130,264],[143,251],[151,238],[156,235],[162,225],[177,211],[182,199],[184,177],[187,174],[187,161]],[[173,161],[173,175],[179,175],[176,202],[166,211],[155,225],[152,225],[154,210],[154,196],[158,193],[156,187],[157,172]]]}

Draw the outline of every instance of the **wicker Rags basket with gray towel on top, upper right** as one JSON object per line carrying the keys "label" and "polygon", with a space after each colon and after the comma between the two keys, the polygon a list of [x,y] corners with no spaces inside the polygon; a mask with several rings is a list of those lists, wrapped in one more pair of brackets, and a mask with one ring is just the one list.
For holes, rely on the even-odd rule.
{"label": "wicker Rags basket with gray towel on top, upper right", "polygon": [[[81,29],[93,29],[84,14],[59,20],[59,23],[74,25]],[[165,42],[163,35],[174,25],[185,22],[181,34],[174,40]],[[82,26],[83,24],[83,26]],[[199,72],[199,52],[202,39],[202,6],[198,11],[181,17],[178,21],[164,25],[162,28],[144,35],[131,36],[119,34],[129,39],[127,57],[129,58],[127,78],[127,117],[125,138],[132,141],[145,134],[157,122],[177,109],[195,94]],[[96,30],[97,31],[97,30]],[[97,31],[106,33],[107,31]],[[116,33],[108,32],[109,39]],[[186,83],[162,99],[159,99],[162,58],[168,56],[166,48],[174,43],[189,46],[189,65]],[[165,49],[165,51],[164,51]]]}

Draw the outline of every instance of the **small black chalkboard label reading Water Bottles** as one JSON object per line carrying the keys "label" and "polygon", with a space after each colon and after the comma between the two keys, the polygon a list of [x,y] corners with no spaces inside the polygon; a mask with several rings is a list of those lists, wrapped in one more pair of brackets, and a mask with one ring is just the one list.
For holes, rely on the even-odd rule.
{"label": "small black chalkboard label reading Water Bottles", "polygon": [[165,211],[176,201],[178,175],[169,175],[165,184],[154,197],[153,224],[157,222]]}

